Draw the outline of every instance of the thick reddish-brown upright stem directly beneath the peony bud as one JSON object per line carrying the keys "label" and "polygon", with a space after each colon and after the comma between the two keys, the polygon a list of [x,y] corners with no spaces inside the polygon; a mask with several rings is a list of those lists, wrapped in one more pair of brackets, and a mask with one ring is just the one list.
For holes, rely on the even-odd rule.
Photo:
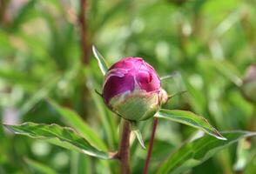
{"label": "thick reddish-brown upright stem directly beneath the peony bud", "polygon": [[127,120],[123,120],[121,127],[121,139],[119,144],[118,158],[121,162],[122,174],[130,174],[130,135],[131,135],[131,124]]}

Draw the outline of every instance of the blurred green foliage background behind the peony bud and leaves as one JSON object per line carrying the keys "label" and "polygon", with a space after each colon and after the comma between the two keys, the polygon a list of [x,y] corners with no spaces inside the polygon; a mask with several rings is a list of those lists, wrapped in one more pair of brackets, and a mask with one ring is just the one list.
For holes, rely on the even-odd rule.
{"label": "blurred green foliage background behind the peony bud and leaves", "polygon": [[[103,77],[92,44],[110,64],[143,57],[159,76],[172,75],[162,81],[165,90],[187,92],[165,108],[192,110],[219,131],[256,131],[256,103],[241,92],[246,69],[256,62],[254,0],[1,0],[1,124],[69,125],[47,102],[52,98],[76,110],[115,151],[119,118],[94,91],[101,91]],[[140,126],[147,144],[152,120]],[[160,121],[151,173],[195,133]],[[131,167],[141,173],[146,151],[136,142]],[[256,144],[250,143],[232,145],[186,173],[253,174]],[[118,173],[117,165],[0,126],[1,174]]]}

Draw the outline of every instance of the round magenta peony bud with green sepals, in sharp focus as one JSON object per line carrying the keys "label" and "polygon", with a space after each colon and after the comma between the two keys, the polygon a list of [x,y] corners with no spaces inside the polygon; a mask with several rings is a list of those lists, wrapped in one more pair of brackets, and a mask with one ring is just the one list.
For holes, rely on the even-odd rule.
{"label": "round magenta peony bud with green sepals, in sharp focus", "polygon": [[120,117],[139,121],[152,117],[167,101],[157,72],[139,57],[126,57],[108,70],[104,103]]}

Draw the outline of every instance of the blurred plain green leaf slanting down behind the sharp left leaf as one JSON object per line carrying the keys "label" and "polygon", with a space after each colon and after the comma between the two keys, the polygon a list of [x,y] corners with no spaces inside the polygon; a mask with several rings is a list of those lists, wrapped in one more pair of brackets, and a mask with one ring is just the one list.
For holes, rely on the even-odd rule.
{"label": "blurred plain green leaf slanting down behind the sharp left leaf", "polygon": [[64,108],[54,102],[49,100],[50,104],[57,110],[57,112],[64,117],[65,123],[69,124],[71,127],[75,128],[83,137],[88,139],[88,141],[100,150],[106,151],[107,148],[104,142],[98,137],[98,134],[91,129],[91,127],[84,122],[84,120],[78,116],[78,114],[71,109]]}

